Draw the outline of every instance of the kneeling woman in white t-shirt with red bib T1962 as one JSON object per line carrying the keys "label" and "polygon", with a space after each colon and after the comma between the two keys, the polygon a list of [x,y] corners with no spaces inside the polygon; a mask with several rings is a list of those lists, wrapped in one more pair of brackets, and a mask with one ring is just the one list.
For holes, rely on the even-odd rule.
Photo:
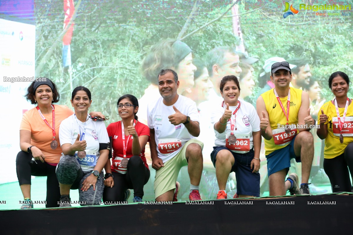
{"label": "kneeling woman in white t-shirt with red bib T1962", "polygon": [[211,161],[216,168],[219,186],[217,199],[227,199],[226,183],[231,172],[237,178],[238,197],[260,196],[260,119],[254,106],[239,101],[236,76],[225,76],[220,84],[223,102],[213,107],[211,122],[216,140]]}

